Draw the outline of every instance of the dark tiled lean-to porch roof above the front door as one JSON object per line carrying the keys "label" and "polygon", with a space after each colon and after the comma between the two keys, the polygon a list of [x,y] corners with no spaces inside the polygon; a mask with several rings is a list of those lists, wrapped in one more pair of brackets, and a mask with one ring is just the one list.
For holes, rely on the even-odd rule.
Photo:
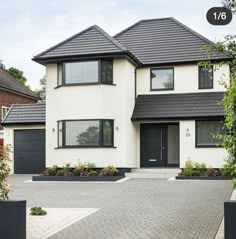
{"label": "dark tiled lean-to porch roof above the front door", "polygon": [[223,92],[139,95],[132,120],[222,117],[225,112],[219,102],[223,96]]}

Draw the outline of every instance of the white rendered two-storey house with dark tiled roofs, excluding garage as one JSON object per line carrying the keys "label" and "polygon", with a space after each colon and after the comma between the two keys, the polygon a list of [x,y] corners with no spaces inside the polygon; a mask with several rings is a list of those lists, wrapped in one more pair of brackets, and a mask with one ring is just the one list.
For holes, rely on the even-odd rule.
{"label": "white rendered two-storey house with dark tiled roofs, excluding garage", "polygon": [[[212,67],[198,65],[208,59]],[[164,176],[187,160],[222,167],[227,153],[213,135],[224,133],[225,59],[174,18],[113,37],[94,25],[36,55],[46,67],[46,167],[79,160]]]}

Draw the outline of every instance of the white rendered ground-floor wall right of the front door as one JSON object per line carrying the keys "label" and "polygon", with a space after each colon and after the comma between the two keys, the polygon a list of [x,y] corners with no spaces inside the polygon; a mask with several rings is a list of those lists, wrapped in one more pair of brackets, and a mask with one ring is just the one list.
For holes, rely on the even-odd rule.
{"label": "white rendered ground-floor wall right of the front door", "polygon": [[227,152],[223,148],[196,148],[195,121],[180,121],[180,168],[184,167],[187,160],[221,168],[225,159]]}

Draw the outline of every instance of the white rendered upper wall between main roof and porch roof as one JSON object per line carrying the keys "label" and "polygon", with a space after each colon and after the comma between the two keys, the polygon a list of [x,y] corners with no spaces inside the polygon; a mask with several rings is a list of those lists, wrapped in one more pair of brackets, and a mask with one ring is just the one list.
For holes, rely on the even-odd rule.
{"label": "white rendered upper wall between main roof and porch roof", "polygon": [[[214,67],[215,68],[215,67]],[[137,70],[137,94],[172,94],[190,92],[224,91],[220,82],[229,80],[229,67],[224,64],[214,70],[213,89],[198,89],[198,65],[174,66],[174,90],[151,91],[150,68]]]}

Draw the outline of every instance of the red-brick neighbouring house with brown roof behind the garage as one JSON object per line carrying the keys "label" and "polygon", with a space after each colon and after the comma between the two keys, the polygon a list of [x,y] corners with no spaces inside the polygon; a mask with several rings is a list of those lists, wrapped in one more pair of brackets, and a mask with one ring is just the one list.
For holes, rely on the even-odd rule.
{"label": "red-brick neighbouring house with brown roof behind the garage", "polygon": [[[20,84],[6,70],[0,67],[0,122],[12,104],[36,103],[39,97],[28,87]],[[4,131],[0,124],[0,145],[3,144]]]}

